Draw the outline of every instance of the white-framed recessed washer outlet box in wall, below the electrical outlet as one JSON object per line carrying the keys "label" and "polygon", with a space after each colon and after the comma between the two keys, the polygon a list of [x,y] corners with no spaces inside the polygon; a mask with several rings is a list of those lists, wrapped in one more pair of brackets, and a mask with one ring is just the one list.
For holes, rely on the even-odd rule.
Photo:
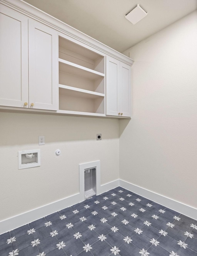
{"label": "white-framed recessed washer outlet box in wall, below the electrical outlet", "polygon": [[18,151],[18,169],[40,166],[40,149]]}

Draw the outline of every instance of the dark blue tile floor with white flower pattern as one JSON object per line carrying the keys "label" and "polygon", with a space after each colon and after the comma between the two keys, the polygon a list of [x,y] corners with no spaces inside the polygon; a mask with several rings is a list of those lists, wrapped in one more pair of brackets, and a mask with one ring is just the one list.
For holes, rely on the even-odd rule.
{"label": "dark blue tile floor with white flower pattern", "polygon": [[197,220],[117,187],[0,235],[0,256],[197,256]]}

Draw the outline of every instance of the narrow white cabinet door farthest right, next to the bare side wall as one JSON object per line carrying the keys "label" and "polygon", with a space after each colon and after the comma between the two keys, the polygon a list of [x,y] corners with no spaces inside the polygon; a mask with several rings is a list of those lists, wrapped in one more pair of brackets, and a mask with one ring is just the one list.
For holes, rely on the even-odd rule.
{"label": "narrow white cabinet door farthest right, next to the bare side wall", "polygon": [[120,113],[131,117],[131,66],[120,62]]}

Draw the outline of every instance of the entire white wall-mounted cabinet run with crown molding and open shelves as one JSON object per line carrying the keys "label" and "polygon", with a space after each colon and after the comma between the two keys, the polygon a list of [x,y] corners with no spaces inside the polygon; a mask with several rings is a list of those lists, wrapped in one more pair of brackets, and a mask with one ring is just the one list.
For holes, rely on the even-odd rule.
{"label": "entire white wall-mounted cabinet run with crown molding and open shelves", "polygon": [[129,118],[132,64],[22,0],[0,0],[0,111]]}

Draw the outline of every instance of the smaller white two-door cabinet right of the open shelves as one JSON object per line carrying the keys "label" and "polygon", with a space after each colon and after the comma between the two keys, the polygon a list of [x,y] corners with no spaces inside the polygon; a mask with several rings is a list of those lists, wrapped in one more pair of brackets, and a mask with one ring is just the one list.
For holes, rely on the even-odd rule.
{"label": "smaller white two-door cabinet right of the open shelves", "polygon": [[107,57],[106,114],[131,117],[131,66]]}

